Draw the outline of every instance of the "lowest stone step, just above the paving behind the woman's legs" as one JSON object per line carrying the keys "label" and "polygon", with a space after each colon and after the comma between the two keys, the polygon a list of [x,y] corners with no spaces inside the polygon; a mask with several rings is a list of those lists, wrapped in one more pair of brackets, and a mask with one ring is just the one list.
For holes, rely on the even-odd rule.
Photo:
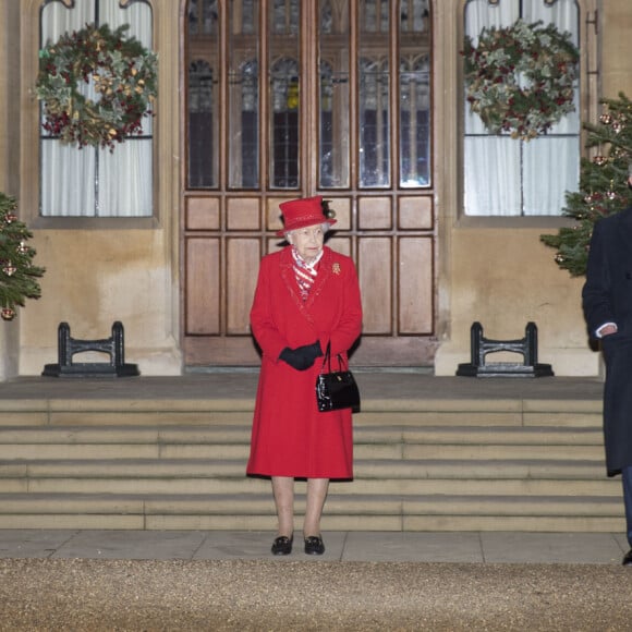
{"label": "lowest stone step, just above the paving behind the woman's legs", "polygon": [[[9,497],[8,497],[9,496]],[[296,519],[304,498],[296,497]],[[324,531],[550,531],[624,528],[621,500],[513,496],[338,497],[331,494]],[[0,495],[0,528],[270,530],[268,494],[144,498],[107,495]]]}

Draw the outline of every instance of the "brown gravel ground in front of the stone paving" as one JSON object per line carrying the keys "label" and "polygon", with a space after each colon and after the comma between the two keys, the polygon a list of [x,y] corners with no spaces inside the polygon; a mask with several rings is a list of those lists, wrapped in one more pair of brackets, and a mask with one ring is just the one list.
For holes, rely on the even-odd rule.
{"label": "brown gravel ground in front of the stone paving", "polygon": [[632,629],[608,564],[0,560],[0,630]]}

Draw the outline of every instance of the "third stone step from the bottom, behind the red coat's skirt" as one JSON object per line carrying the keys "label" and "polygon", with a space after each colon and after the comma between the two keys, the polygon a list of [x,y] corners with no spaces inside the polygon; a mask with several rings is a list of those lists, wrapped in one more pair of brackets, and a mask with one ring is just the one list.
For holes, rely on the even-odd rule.
{"label": "third stone step from the bottom, behind the red coat's skirt", "polygon": [[[0,460],[247,459],[250,427],[5,427]],[[361,427],[357,459],[603,458],[601,432],[591,428]]]}

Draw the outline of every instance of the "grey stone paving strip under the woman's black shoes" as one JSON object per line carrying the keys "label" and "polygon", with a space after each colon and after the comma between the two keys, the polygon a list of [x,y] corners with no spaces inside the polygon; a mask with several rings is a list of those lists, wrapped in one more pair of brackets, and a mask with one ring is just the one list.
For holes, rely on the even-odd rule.
{"label": "grey stone paving strip under the woman's black shoes", "polygon": [[[0,558],[305,561],[300,539],[272,557],[269,532],[0,530]],[[296,536],[299,537],[299,536]],[[619,566],[623,534],[325,532],[313,562],[568,563]]]}

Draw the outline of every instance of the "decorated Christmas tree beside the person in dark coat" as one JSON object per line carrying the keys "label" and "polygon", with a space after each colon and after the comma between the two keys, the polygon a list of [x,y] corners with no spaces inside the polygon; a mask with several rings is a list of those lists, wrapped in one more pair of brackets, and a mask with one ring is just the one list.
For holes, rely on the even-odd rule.
{"label": "decorated Christmas tree beside the person in dark coat", "polygon": [[618,99],[603,99],[601,104],[599,122],[584,123],[592,157],[582,158],[580,189],[567,193],[563,215],[574,219],[574,226],[560,228],[558,234],[540,235],[546,245],[557,250],[557,265],[572,277],[586,272],[594,223],[632,205],[628,186],[632,173],[632,101],[619,93]]}

